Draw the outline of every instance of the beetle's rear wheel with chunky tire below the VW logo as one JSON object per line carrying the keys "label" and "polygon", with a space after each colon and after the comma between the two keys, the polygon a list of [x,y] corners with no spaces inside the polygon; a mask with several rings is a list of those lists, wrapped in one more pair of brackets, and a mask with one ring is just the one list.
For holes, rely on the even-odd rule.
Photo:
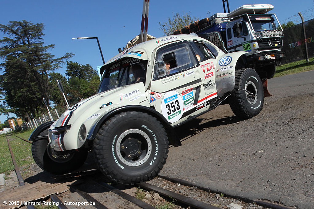
{"label": "beetle's rear wheel with chunky tire below the VW logo", "polygon": [[230,95],[232,112],[242,118],[252,118],[261,112],[264,104],[263,84],[258,74],[251,68],[235,72],[235,92]]}

